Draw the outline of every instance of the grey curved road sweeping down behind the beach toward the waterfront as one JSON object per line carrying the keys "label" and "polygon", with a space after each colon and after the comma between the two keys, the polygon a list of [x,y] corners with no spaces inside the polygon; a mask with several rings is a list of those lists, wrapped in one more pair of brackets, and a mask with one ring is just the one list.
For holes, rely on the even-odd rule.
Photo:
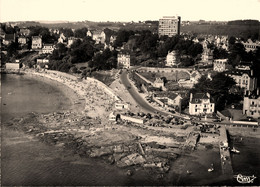
{"label": "grey curved road sweeping down behind the beach toward the waterfront", "polygon": [[[140,107],[142,107],[145,111],[150,112],[150,113],[160,113],[162,115],[169,115],[169,113],[167,112],[163,112],[160,111],[154,107],[152,107],[150,104],[147,103],[147,101],[145,99],[143,99],[140,94],[137,92],[137,90],[135,88],[133,88],[132,84],[130,83],[130,81],[128,80],[127,77],[127,71],[122,72],[121,76],[120,76],[121,82],[122,84],[126,87],[126,89],[128,90],[128,92],[131,94],[131,96],[133,97],[133,99],[138,103],[138,105]],[[130,87],[130,88],[129,88]],[[129,88],[129,89],[128,89]]]}

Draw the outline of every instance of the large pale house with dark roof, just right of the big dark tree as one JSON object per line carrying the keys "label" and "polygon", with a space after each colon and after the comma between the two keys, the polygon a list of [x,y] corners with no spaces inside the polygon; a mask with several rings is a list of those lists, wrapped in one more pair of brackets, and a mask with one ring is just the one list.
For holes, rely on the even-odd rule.
{"label": "large pale house with dark roof, just right of the big dark tree", "polygon": [[257,88],[257,78],[253,75],[253,70],[234,70],[226,75],[232,77],[236,85],[245,90],[253,91]]}

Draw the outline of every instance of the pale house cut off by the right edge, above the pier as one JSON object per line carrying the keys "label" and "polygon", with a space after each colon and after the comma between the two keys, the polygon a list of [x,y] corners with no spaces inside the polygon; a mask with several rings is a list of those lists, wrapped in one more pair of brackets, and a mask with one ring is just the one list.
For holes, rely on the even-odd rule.
{"label": "pale house cut off by the right edge, above the pier", "polygon": [[243,101],[243,114],[249,117],[260,117],[260,94],[259,88],[250,92],[246,91]]}

